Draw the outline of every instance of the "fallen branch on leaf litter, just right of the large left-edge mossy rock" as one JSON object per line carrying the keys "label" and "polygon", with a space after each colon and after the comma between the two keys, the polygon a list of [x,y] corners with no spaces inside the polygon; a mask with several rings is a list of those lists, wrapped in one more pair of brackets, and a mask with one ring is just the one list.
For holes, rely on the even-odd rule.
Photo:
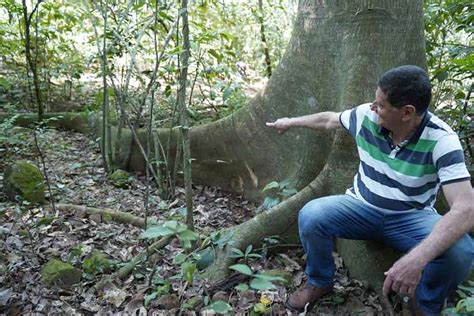
{"label": "fallen branch on leaf litter, just right of the large left-edge mossy rock", "polygon": [[[45,207],[45,209],[48,208],[50,208],[50,206]],[[95,208],[73,204],[56,204],[56,209],[61,212],[74,211],[85,212],[89,215],[99,214],[101,216],[101,219],[105,222],[107,220],[113,220],[117,223],[130,224],[136,227],[145,228],[144,218],[126,212],[114,211],[109,208]]]}

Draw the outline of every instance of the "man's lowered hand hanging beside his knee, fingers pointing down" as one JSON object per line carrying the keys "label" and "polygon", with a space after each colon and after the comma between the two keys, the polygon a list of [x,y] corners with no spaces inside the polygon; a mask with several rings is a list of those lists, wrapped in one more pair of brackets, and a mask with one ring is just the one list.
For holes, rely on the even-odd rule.
{"label": "man's lowered hand hanging beside his knee, fingers pointing down", "polygon": [[391,290],[413,296],[421,279],[421,273],[426,264],[421,260],[407,254],[397,260],[393,266],[385,272],[383,293],[387,295]]}

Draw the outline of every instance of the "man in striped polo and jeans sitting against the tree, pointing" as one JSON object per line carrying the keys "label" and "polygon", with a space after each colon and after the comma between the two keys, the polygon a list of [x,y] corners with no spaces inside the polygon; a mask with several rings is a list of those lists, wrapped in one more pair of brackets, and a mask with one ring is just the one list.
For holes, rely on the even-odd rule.
{"label": "man in striped polo and jeans sitting against the tree, pointing", "polygon": [[[408,65],[380,78],[372,103],[267,123],[280,133],[344,127],[360,157],[345,195],[312,200],[299,213],[308,282],[289,297],[289,308],[312,308],[332,291],[334,237],[380,240],[405,252],[385,272],[383,292],[414,297],[424,314],[439,314],[448,293],[467,276],[474,191],[459,138],[428,111],[430,100],[426,72]],[[444,216],[433,208],[440,186],[450,205]]]}

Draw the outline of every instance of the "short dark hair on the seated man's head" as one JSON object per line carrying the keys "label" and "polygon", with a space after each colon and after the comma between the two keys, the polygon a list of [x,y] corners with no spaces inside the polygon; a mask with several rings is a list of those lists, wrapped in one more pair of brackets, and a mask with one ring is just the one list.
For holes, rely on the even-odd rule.
{"label": "short dark hair on the seated man's head", "polygon": [[431,83],[426,71],[418,66],[405,65],[393,68],[382,75],[378,86],[388,102],[401,108],[411,104],[416,113],[426,112],[431,101]]}

